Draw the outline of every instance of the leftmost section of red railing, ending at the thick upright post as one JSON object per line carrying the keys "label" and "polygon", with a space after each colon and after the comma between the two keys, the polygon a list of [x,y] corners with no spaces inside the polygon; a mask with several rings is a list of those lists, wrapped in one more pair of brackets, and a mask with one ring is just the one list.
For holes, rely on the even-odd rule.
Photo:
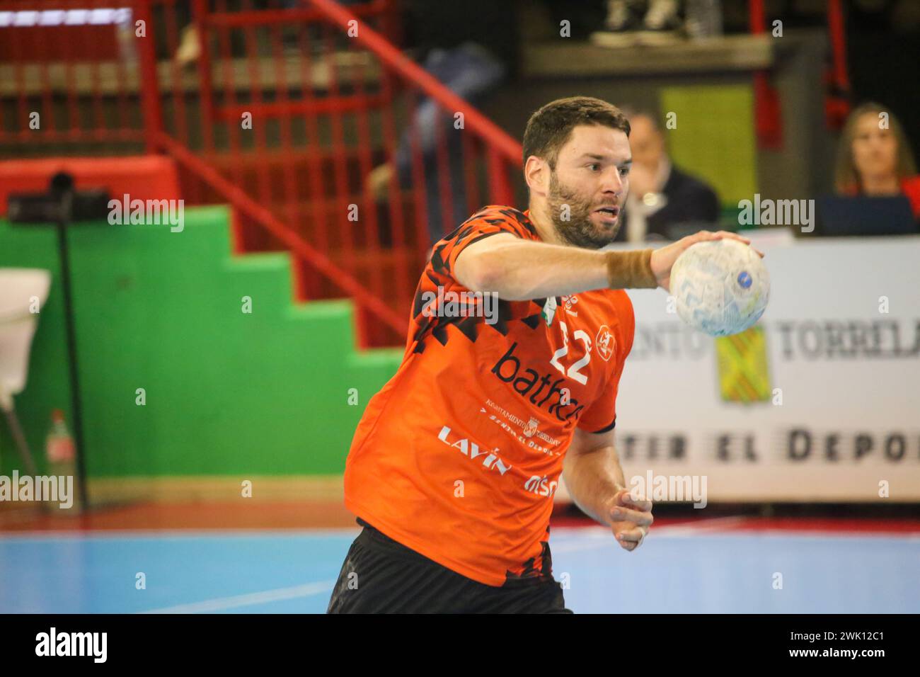
{"label": "leftmost section of red railing, ending at the thick upright post", "polygon": [[137,147],[144,129],[129,105],[137,87],[131,10],[125,2],[0,1],[5,155],[47,155],[51,145]]}

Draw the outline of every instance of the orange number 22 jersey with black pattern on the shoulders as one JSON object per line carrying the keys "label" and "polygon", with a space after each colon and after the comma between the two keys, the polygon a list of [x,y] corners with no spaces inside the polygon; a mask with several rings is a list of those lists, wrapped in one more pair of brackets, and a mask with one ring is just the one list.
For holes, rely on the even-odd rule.
{"label": "orange number 22 jersey with black pattern on the shoulders", "polygon": [[576,426],[614,426],[635,331],[620,289],[470,294],[457,255],[498,233],[539,240],[526,212],[491,205],[434,246],[402,364],[367,404],[345,466],[345,505],[359,518],[492,586],[551,576],[562,460]]}

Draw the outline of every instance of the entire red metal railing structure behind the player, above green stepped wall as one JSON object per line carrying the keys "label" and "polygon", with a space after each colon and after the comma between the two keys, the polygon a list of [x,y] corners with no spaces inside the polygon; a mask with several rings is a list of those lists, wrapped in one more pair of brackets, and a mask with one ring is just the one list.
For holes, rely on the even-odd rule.
{"label": "entire red metal railing structure behind the player, above green stepped wall", "polygon": [[[0,12],[47,6],[0,0]],[[405,341],[432,219],[446,232],[481,204],[514,201],[521,146],[399,52],[392,0],[55,3],[104,6],[130,8],[132,23],[92,27],[92,40],[56,27],[86,43],[65,58],[48,56],[51,27],[0,24],[16,83],[0,94],[15,120],[0,123],[0,146],[28,143],[25,153],[40,137],[94,154],[169,154],[188,203],[235,207],[240,251],[291,251],[298,298],[353,298],[362,344]],[[144,36],[127,30],[136,21]],[[183,65],[172,57],[187,21],[199,55]],[[55,123],[38,136],[22,123],[37,107]],[[422,113],[433,147],[420,138]]]}

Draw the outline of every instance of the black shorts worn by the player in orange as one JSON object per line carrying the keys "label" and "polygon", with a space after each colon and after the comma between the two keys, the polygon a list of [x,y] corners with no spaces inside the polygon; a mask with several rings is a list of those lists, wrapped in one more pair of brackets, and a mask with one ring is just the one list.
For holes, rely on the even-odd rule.
{"label": "black shorts worn by the player in orange", "polygon": [[486,585],[358,523],[327,613],[572,613],[551,577]]}

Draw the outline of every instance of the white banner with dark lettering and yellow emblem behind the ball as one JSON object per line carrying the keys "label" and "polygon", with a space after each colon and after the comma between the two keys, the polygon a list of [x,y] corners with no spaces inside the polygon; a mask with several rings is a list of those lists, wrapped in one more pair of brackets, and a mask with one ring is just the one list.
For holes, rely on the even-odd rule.
{"label": "white banner with dark lettering and yellow emblem behind the ball", "polygon": [[920,501],[920,237],[749,235],[772,286],[749,333],[696,333],[663,290],[629,292],[627,484],[697,503]]}

